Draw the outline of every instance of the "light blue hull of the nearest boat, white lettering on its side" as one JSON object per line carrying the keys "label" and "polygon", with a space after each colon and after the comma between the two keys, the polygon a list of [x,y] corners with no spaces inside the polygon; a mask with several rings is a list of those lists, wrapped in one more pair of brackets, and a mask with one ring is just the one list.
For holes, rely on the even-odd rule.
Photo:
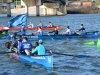
{"label": "light blue hull of the nearest boat, white lettering on its side", "polygon": [[40,65],[45,68],[53,67],[53,55],[41,55],[41,56],[27,56],[17,53],[9,53],[10,58],[18,60],[22,63],[26,63],[28,65]]}

